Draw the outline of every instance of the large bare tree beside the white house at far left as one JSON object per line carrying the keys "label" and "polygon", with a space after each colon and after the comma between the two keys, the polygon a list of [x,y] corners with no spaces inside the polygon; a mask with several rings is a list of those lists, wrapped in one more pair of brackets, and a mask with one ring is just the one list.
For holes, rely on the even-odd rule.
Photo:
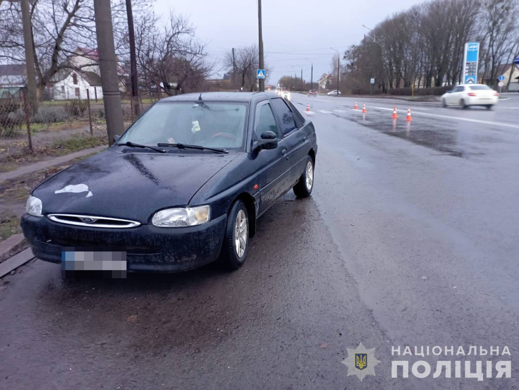
{"label": "large bare tree beside the white house at far left", "polygon": [[[124,0],[112,2],[116,50],[121,57],[128,53],[125,7]],[[145,0],[134,0],[134,17],[139,19],[143,13],[149,12],[150,7]],[[43,91],[60,70],[74,68],[69,61],[71,57],[85,54],[78,54],[78,47],[97,48],[93,4],[89,0],[33,0],[30,12],[34,67],[37,83]],[[20,20],[19,3],[0,3],[0,61],[24,62]]]}

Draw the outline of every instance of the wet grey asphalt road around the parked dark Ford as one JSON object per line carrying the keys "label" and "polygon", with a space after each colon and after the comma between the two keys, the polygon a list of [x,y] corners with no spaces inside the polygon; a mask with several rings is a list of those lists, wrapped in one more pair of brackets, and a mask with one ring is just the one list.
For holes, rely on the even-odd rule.
{"label": "wet grey asphalt road around the parked dark Ford", "polygon": [[[36,261],[0,288],[0,387],[519,388],[519,94],[492,111],[293,94],[319,152],[309,199],[258,221],[247,263],[62,280]],[[508,96],[507,96],[508,97]],[[399,119],[391,120],[394,104]],[[347,376],[361,342],[375,377]],[[391,378],[391,345],[508,345],[512,378]],[[433,379],[436,360],[453,378]],[[462,371],[463,373],[463,371]],[[495,371],[494,371],[495,375]],[[494,376],[493,375],[493,376]],[[442,373],[443,376],[443,373]]]}

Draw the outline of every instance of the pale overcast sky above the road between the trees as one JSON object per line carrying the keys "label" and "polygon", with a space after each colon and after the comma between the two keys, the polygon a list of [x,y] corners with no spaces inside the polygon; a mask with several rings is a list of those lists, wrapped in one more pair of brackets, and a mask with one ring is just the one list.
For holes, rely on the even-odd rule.
{"label": "pale overcast sky above the road between the trees", "polygon": [[[368,30],[392,13],[408,9],[422,0],[262,0],[267,82],[281,76],[301,74],[313,81],[331,69],[330,47],[344,52],[358,43]],[[219,66],[227,50],[258,42],[257,0],[156,0],[157,15],[169,10],[181,13],[196,27],[196,35],[207,42],[209,55]],[[305,60],[308,59],[308,60]],[[215,76],[215,78],[220,78]]]}

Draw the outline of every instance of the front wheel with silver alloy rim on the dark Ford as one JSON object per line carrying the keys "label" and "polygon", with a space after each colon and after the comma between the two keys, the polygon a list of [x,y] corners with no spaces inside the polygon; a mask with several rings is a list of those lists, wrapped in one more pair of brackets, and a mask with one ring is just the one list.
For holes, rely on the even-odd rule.
{"label": "front wheel with silver alloy rim on the dark Ford", "polygon": [[220,252],[220,264],[234,271],[240,268],[249,249],[249,214],[242,200],[237,200],[230,208],[225,226],[225,237]]}

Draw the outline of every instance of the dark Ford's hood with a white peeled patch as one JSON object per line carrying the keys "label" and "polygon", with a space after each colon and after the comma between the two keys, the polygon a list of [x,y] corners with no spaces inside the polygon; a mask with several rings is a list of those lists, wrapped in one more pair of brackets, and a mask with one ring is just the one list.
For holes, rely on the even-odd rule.
{"label": "dark Ford's hood with a white peeled patch", "polygon": [[43,213],[112,216],[146,223],[156,210],[185,206],[237,154],[106,150],[36,187]]}

